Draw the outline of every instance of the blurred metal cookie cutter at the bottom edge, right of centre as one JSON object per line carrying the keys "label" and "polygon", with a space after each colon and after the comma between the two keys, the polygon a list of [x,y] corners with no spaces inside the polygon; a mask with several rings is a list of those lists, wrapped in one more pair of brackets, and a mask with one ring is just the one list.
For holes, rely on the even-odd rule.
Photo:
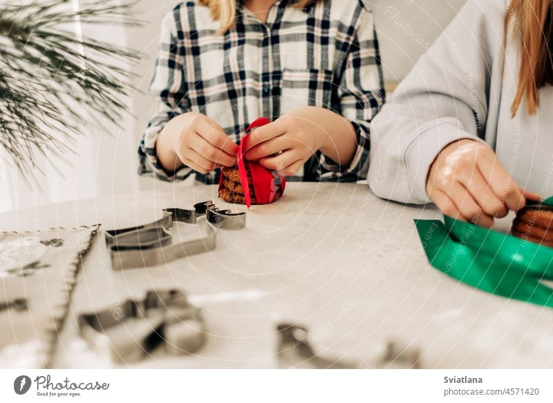
{"label": "blurred metal cookie cutter at the bottom edge, right of centre", "polygon": [[310,343],[310,333],[298,325],[283,324],[277,327],[280,336],[279,364],[281,368],[311,369],[377,369],[377,368],[420,368],[418,349],[401,349],[393,340],[388,339],[386,348],[373,359],[358,364],[334,361],[318,355]]}

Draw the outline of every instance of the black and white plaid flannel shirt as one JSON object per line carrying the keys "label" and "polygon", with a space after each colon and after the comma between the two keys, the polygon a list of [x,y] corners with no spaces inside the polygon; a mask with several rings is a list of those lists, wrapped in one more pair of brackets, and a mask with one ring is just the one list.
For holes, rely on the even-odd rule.
{"label": "black and white plaid flannel shirt", "polygon": [[[238,1],[236,26],[224,35],[197,1],[176,6],[164,19],[151,82],[158,108],[138,154],[140,174],[165,181],[194,171],[165,172],[156,138],[165,124],[194,111],[215,120],[236,143],[255,118],[276,119],[302,106],[323,107],[350,120],[357,152],[340,166],[317,152],[288,180],[357,180],[368,172],[368,123],[384,102],[384,82],[373,15],[362,0],[324,0],[299,10],[277,1],[265,23]],[[216,183],[220,170],[196,173]]]}

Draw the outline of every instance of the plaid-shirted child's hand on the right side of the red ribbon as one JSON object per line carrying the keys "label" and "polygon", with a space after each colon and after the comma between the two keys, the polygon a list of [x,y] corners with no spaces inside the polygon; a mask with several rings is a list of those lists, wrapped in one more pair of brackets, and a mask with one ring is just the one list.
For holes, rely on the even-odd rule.
{"label": "plaid-shirted child's hand on the right side of the red ribbon", "polygon": [[303,163],[321,150],[340,165],[348,165],[357,147],[353,125],[319,107],[301,107],[245,137],[245,159],[259,160],[269,170],[296,174]]}

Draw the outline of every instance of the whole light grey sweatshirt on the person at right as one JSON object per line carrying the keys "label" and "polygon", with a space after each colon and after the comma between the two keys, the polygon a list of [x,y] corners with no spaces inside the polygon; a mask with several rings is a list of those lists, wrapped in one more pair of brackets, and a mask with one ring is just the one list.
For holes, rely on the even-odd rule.
{"label": "whole light grey sweatshirt on the person at right", "polygon": [[519,45],[505,49],[505,0],[469,0],[407,75],[371,127],[368,184],[379,197],[430,202],[430,166],[449,143],[485,141],[523,189],[553,195],[553,87],[538,113],[515,118]]}

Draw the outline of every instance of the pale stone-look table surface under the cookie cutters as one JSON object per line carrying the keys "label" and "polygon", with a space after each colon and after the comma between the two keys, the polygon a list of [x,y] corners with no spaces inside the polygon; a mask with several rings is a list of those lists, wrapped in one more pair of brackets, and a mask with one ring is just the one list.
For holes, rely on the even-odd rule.
{"label": "pale stone-look table surface under the cookie cutters", "polygon": [[[0,214],[0,230],[156,220],[191,208],[216,187],[175,187]],[[235,211],[243,206],[230,206]],[[283,321],[310,329],[332,359],[371,361],[392,338],[422,352],[424,368],[553,367],[553,310],[480,292],[427,262],[414,218],[435,208],[377,199],[366,185],[288,183],[285,196],[252,206],[247,229],[225,231],[215,251],[162,267],[112,271],[102,232],[84,259],[54,365],[109,368],[77,332],[79,313],[108,308],[153,287],[180,287],[203,307],[207,343],[196,355],[154,352],[138,368],[276,368]],[[508,228],[509,219],[498,226]]]}

